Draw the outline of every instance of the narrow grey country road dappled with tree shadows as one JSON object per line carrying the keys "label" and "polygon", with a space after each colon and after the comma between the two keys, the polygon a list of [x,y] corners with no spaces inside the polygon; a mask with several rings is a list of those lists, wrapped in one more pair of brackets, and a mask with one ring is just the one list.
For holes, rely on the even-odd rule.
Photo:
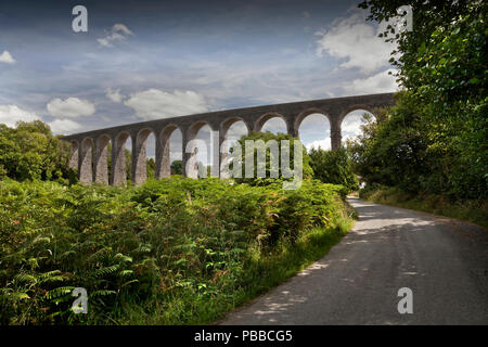
{"label": "narrow grey country road dappled with tree shadows", "polygon": [[[349,198],[354,229],[290,281],[220,324],[488,324],[488,231]],[[398,290],[413,313],[397,310]]]}

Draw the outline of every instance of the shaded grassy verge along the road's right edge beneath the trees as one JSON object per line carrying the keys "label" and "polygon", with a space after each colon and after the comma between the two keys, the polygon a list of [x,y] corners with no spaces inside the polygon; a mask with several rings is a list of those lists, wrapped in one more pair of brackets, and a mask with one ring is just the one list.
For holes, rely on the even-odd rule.
{"label": "shaded grassy verge along the road's right edge beneath the trees", "polygon": [[398,188],[375,187],[359,192],[359,197],[378,204],[415,209],[439,216],[471,221],[488,228],[488,203],[486,201],[452,201],[442,195],[413,195]]}

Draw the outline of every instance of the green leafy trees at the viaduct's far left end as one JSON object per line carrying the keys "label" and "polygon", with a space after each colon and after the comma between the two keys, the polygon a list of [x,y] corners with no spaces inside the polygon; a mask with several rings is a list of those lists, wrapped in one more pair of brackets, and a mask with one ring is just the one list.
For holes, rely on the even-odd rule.
{"label": "green leafy trees at the viaduct's far left end", "polygon": [[20,121],[15,129],[0,124],[0,179],[74,182],[69,151],[69,144],[40,120]]}

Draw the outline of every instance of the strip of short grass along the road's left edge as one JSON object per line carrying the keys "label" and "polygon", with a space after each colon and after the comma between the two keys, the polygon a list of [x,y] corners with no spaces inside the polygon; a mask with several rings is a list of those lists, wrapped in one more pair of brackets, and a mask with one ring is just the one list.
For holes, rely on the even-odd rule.
{"label": "strip of short grass along the road's left edge", "polygon": [[[184,312],[189,320],[184,324],[211,324],[241,305],[265,294],[279,284],[291,279],[300,270],[325,256],[337,244],[352,226],[347,218],[336,228],[316,228],[305,233],[294,245],[283,245],[281,252],[267,257],[257,255],[257,259],[246,269],[248,284],[232,295],[214,296],[205,301],[194,301],[194,297],[179,298],[170,306],[160,306],[157,300],[140,307],[126,307],[126,318],[121,324],[182,324],[175,318]],[[256,250],[256,254],[259,252]],[[193,303],[189,306],[188,303]]]}

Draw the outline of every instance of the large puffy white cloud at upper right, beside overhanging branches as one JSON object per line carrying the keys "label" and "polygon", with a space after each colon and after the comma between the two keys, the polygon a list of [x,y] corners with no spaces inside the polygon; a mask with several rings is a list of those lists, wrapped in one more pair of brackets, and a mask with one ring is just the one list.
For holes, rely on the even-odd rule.
{"label": "large puffy white cloud at upper right, beside overhanging branches", "polygon": [[317,41],[317,54],[323,52],[339,59],[347,59],[341,67],[359,67],[364,73],[373,73],[388,65],[393,43],[385,42],[377,35],[384,31],[387,23],[381,23],[377,28],[367,24],[362,13],[355,13],[342,20],[328,31],[318,31],[321,38]]}

